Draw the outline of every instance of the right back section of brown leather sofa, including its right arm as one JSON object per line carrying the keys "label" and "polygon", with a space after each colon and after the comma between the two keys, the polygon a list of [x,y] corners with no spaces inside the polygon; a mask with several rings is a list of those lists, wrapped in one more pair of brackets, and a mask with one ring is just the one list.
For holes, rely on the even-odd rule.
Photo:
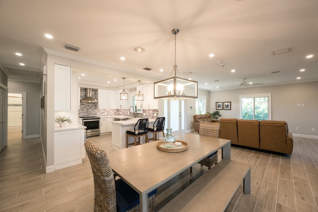
{"label": "right back section of brown leather sofa, including its right arm", "polygon": [[260,148],[286,154],[293,152],[293,135],[285,121],[260,121]]}

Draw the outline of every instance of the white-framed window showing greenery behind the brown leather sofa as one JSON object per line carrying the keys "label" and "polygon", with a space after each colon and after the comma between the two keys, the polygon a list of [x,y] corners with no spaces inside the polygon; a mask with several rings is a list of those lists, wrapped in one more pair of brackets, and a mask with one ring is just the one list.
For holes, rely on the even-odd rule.
{"label": "white-framed window showing greenery behind the brown leather sofa", "polygon": [[271,120],[271,94],[240,95],[240,118]]}

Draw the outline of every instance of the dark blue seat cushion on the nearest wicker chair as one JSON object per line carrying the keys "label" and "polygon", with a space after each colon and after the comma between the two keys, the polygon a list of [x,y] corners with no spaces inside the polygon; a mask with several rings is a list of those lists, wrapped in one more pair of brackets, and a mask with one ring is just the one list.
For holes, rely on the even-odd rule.
{"label": "dark blue seat cushion on the nearest wicker chair", "polygon": [[[139,201],[139,194],[125,183],[122,179],[115,181],[116,186],[116,205],[117,212],[125,212],[135,206],[137,206]],[[157,193],[157,189],[148,194],[148,197]]]}

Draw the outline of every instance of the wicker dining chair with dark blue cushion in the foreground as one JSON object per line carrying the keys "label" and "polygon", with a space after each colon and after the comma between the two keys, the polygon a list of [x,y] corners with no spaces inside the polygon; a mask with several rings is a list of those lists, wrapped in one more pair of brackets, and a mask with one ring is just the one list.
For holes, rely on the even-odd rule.
{"label": "wicker dining chair with dark blue cushion in the foreground", "polygon": [[[94,212],[139,212],[139,194],[122,179],[115,181],[108,157],[104,150],[91,141],[84,146],[94,177]],[[155,210],[155,194],[149,193],[149,211]]]}

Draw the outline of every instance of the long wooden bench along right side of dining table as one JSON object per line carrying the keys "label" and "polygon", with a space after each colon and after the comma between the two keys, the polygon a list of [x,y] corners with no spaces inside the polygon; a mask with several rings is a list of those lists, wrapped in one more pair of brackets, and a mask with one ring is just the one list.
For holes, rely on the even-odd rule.
{"label": "long wooden bench along right side of dining table", "polygon": [[159,212],[225,211],[242,181],[244,193],[250,194],[250,167],[224,158]]}

